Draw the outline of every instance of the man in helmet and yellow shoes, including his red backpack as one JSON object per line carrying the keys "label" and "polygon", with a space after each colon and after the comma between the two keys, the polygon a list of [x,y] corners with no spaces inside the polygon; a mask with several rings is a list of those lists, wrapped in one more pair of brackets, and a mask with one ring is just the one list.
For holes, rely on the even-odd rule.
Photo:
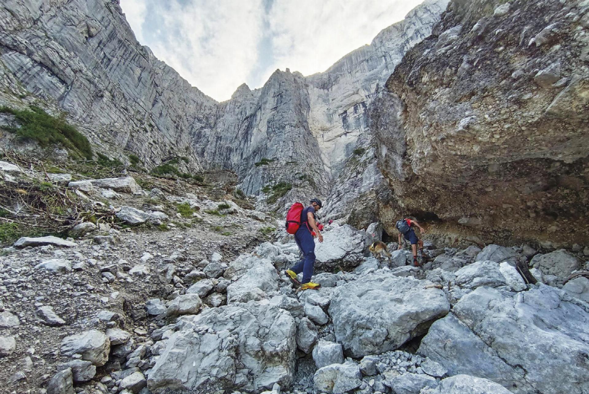
{"label": "man in helmet and yellow shoes, including his red backpack", "polygon": [[[294,203],[286,215],[286,231],[289,234],[294,234],[294,241],[299,246],[303,259],[296,266],[284,271],[284,273],[295,286],[300,284],[301,290],[319,289],[321,286],[319,283],[311,282],[311,276],[315,265],[313,233],[317,234],[319,242],[323,242],[323,236],[315,221],[315,212],[320,210],[323,204],[319,198],[313,198],[310,203],[311,205],[306,208],[301,203]],[[303,280],[299,283],[297,274],[301,272],[303,273]]]}

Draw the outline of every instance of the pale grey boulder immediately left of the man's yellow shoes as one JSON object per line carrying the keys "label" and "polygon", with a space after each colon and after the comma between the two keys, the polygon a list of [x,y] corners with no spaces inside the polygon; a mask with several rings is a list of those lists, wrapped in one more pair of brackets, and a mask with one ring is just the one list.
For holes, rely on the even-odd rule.
{"label": "pale grey boulder immediately left of the man's yellow shoes", "polygon": [[267,293],[278,290],[278,275],[272,262],[268,259],[249,261],[252,264],[247,269],[240,270],[239,279],[227,286],[228,304],[266,299]]}

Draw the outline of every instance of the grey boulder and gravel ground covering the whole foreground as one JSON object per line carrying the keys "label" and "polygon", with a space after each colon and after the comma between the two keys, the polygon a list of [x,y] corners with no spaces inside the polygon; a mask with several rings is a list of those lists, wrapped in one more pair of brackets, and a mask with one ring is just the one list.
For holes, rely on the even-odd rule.
{"label": "grey boulder and gravel ground covering the whole foreground", "polygon": [[[2,390],[589,389],[589,279],[567,282],[589,269],[589,247],[538,253],[526,245],[458,250],[428,243],[432,258],[418,268],[408,265],[409,250],[393,251],[390,261],[364,256],[371,234],[333,223],[317,245],[314,280],[322,287],[297,292],[282,271],[299,253],[283,231],[252,250],[246,244],[265,224],[249,220],[247,210],[216,216],[204,207],[218,203],[201,197],[151,194],[203,207],[203,221],[180,230],[186,220],[178,218],[176,229],[155,233],[95,229],[76,240],[4,249]],[[234,235],[207,225],[230,226]],[[332,273],[326,256],[345,271]],[[519,276],[518,260],[530,265],[537,284]]]}

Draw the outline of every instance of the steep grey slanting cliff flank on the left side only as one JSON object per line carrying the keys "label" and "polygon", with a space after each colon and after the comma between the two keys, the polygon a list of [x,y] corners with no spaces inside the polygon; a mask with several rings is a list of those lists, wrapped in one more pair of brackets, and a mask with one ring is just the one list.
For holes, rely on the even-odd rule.
{"label": "steep grey slanting cliff flank on the left side only", "polygon": [[4,104],[55,104],[105,152],[200,168],[189,131],[213,124],[216,101],[138,44],[116,1],[2,2],[0,74]]}

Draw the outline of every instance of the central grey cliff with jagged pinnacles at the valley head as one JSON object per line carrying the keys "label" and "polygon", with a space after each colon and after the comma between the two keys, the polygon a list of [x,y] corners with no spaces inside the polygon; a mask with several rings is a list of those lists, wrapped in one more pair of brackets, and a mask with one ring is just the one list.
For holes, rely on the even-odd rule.
{"label": "central grey cliff with jagged pinnacles at the valley head", "polygon": [[[368,131],[370,102],[403,54],[428,37],[447,4],[425,1],[325,72],[303,77],[287,69],[274,72],[263,88],[242,85],[219,105],[214,130],[195,134],[197,152],[207,163],[236,170],[247,193],[292,183],[297,192],[279,207],[317,193],[329,200],[326,214],[349,217],[355,200],[382,180]],[[356,148],[365,153],[354,154]],[[262,158],[274,161],[256,166]],[[373,197],[366,201],[376,206]],[[374,216],[364,215],[362,223]]]}

